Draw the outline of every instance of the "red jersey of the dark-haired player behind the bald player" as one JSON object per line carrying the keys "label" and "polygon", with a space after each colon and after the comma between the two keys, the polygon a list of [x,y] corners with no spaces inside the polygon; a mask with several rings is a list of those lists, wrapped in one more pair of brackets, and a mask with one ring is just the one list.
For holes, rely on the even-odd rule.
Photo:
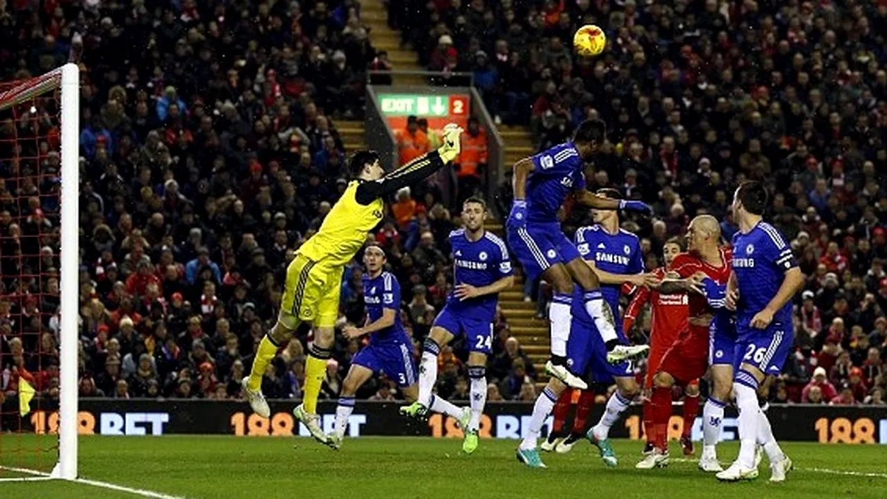
{"label": "red jersey of the dark-haired player behind the bald player", "polygon": [[[666,273],[665,267],[659,267],[653,273],[659,279],[663,279]],[[624,331],[632,329],[640,309],[648,301],[652,307],[650,345],[663,345],[668,348],[678,338],[678,333],[687,329],[687,313],[689,312],[687,293],[663,295],[659,291],[641,287],[625,309]]]}

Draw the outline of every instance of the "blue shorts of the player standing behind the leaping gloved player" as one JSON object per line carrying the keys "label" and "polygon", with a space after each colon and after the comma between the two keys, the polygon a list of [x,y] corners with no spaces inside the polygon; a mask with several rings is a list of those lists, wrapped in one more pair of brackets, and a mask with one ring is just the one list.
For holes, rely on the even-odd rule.
{"label": "blue shorts of the player standing behind the leaping gloved player", "polygon": [[[628,344],[622,331],[616,336]],[[610,364],[607,361],[607,345],[593,323],[573,318],[567,341],[567,367],[576,376],[593,383],[610,383],[615,377],[634,376],[631,362]]]}

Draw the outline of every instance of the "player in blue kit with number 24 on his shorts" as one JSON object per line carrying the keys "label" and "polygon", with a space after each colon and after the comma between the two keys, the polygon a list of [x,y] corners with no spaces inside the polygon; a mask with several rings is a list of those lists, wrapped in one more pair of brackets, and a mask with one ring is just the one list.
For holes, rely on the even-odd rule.
{"label": "player in blue kit with number 24 on his shorts", "polygon": [[471,416],[460,422],[465,431],[462,450],[467,454],[477,448],[477,431],[487,400],[486,365],[492,352],[493,321],[496,317],[498,292],[514,283],[511,260],[505,242],[483,228],[486,203],[468,198],[462,204],[464,228],[450,234],[453,255],[454,289],[437,315],[425,339],[419,368],[419,400],[401,408],[407,416],[424,417],[434,403],[442,400],[432,394],[437,382],[437,355],[441,345],[454,337],[464,337],[468,347]]}

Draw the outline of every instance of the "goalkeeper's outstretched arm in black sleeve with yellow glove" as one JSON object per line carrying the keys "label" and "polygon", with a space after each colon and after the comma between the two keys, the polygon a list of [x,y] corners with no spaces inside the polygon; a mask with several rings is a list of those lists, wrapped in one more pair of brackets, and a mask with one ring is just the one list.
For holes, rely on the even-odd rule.
{"label": "goalkeeper's outstretched arm in black sleeve with yellow glove", "polygon": [[357,186],[357,202],[369,204],[382,196],[396,193],[405,186],[412,186],[443,168],[443,165],[456,159],[461,150],[459,138],[462,129],[448,124],[443,129],[443,146],[422,154],[404,166],[389,171],[382,178],[364,182]]}

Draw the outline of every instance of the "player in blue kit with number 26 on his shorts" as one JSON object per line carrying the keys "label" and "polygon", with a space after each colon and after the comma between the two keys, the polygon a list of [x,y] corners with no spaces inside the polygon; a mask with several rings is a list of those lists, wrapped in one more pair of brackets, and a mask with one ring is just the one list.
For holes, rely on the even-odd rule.
{"label": "player in blue kit with number 26 on his shorts", "polygon": [[739,457],[719,480],[755,479],[756,443],[770,460],[771,481],[785,480],[791,460],[773,439],[765,414],[757,403],[757,387],[765,376],[778,375],[794,342],[791,299],[804,285],[785,237],[762,220],[767,192],[759,182],[745,182],[736,189],[734,220],[739,232],[733,238],[733,272],[726,303],[736,309],[736,356],[734,374],[736,407],[739,409]]}

